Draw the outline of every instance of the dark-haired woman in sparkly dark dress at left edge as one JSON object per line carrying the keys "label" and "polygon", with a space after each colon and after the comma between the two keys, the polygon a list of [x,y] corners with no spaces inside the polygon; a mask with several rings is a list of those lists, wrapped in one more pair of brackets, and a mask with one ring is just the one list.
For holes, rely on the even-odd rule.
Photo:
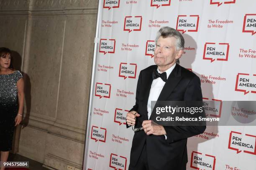
{"label": "dark-haired woman in sparkly dark dress at left edge", "polygon": [[8,48],[0,47],[1,161],[7,161],[9,151],[12,150],[13,131],[22,120],[24,102],[24,81],[21,73],[13,69],[10,54]]}

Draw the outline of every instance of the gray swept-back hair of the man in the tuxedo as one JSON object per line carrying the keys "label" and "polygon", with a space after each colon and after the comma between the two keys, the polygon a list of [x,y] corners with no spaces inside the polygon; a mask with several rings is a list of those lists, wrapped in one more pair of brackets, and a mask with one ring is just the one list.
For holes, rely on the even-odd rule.
{"label": "gray swept-back hair of the man in the tuxedo", "polygon": [[[175,37],[176,38],[176,50],[183,50],[184,49],[184,44],[185,40],[182,34],[175,30],[174,28],[171,27],[162,27],[157,33],[156,33],[156,40],[155,42],[157,43],[157,40],[160,38],[167,38],[167,37]],[[179,64],[179,59],[176,60],[176,62]]]}

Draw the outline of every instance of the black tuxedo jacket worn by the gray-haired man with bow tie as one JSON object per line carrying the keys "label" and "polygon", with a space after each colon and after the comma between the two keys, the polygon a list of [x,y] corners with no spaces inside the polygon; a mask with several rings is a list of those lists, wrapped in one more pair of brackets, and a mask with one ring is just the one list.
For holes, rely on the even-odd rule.
{"label": "black tuxedo jacket worn by the gray-haired man with bow tie", "polygon": [[[135,128],[148,120],[147,103],[152,84],[152,72],[157,65],[141,70],[136,90],[136,104],[130,110],[141,116],[136,118]],[[176,64],[169,75],[158,101],[202,101],[200,78],[195,73]],[[129,126],[127,125],[127,128]],[[131,148],[130,165],[136,166],[138,158],[146,145],[150,170],[180,170],[187,164],[187,138],[205,131],[205,126],[164,126],[164,135],[146,135],[143,130],[134,133]],[[183,168],[182,168],[183,167]]]}

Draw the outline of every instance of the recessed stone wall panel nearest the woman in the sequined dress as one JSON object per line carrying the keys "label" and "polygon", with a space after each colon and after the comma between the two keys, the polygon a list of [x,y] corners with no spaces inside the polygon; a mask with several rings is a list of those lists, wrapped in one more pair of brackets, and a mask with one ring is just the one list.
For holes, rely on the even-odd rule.
{"label": "recessed stone wall panel nearest the woman in the sequined dress", "polygon": [[35,17],[32,20],[27,74],[31,82],[31,113],[56,117],[65,20]]}

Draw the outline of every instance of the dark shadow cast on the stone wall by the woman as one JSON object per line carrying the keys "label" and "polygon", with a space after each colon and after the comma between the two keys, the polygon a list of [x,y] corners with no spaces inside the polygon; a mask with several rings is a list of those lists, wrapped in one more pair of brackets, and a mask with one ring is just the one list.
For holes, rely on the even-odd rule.
{"label": "dark shadow cast on the stone wall by the woman", "polygon": [[23,117],[23,121],[21,122],[22,125],[18,125],[15,128],[14,136],[13,136],[13,153],[18,152],[18,146],[19,146],[19,140],[20,140],[20,133],[21,133],[21,128],[25,128],[28,125],[29,121],[29,115],[30,115],[30,110],[31,110],[31,82],[28,74],[25,72],[21,71],[21,64],[22,64],[22,58],[20,54],[16,51],[11,51],[11,56],[12,56],[12,62],[13,62],[13,67],[15,70],[19,70],[24,79],[24,92],[25,92],[25,100],[24,100],[24,108],[23,109],[23,115],[26,116]]}

